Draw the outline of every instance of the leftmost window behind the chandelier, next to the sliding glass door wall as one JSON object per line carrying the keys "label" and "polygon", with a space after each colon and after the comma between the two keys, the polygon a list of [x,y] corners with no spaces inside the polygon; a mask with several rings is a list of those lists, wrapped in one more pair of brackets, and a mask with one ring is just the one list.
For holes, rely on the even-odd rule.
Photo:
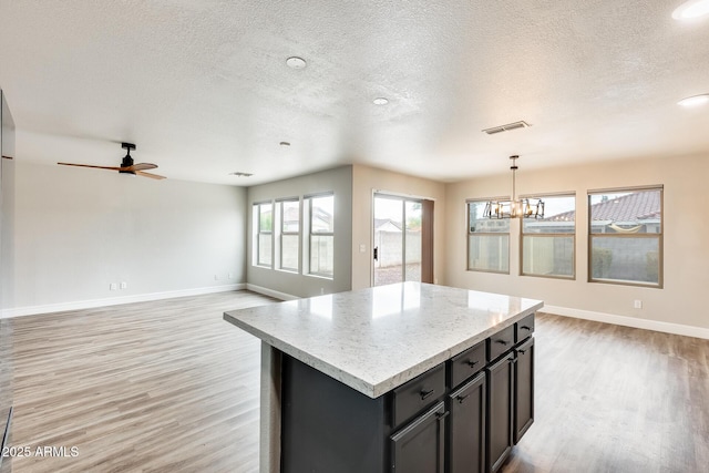
{"label": "leftmost window behind the chandelier, next to the sliding glass door wall", "polygon": [[510,219],[484,218],[485,203],[467,203],[467,269],[508,274]]}

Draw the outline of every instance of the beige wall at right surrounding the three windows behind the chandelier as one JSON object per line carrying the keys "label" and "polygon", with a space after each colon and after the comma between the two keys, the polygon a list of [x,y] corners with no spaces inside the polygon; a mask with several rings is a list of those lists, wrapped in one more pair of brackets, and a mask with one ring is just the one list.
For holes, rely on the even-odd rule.
{"label": "beige wall at right surrounding the three windows behind the chandelier", "polygon": [[[530,158],[531,160],[531,158]],[[709,203],[709,157],[666,157],[525,172],[520,162],[517,193],[576,192],[576,280],[518,275],[518,222],[513,222],[510,275],[467,271],[465,199],[505,195],[511,173],[446,187],[445,281],[450,286],[543,299],[562,308],[709,328],[703,291],[709,288],[709,218],[695,217]],[[589,284],[587,275],[588,189],[662,184],[665,224],[664,289]],[[634,309],[634,300],[643,309]]]}

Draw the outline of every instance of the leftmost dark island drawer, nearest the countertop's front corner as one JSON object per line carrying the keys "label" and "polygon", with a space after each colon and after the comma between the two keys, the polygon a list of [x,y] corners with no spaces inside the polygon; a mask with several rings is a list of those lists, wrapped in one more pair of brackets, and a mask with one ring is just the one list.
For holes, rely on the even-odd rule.
{"label": "leftmost dark island drawer, nearest the countertop's front corner", "polygon": [[393,391],[393,426],[433,405],[445,393],[445,363],[412,379]]}

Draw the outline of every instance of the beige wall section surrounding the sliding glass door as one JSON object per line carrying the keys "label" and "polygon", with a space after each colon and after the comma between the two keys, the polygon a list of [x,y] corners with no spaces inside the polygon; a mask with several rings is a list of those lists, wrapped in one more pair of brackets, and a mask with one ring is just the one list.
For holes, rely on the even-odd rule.
{"label": "beige wall section surrounding the sliding glass door", "polygon": [[[372,193],[390,192],[425,197],[433,204],[433,278],[444,284],[445,185],[374,167],[354,165],[352,172],[352,289],[371,286]],[[364,251],[360,251],[364,245]]]}

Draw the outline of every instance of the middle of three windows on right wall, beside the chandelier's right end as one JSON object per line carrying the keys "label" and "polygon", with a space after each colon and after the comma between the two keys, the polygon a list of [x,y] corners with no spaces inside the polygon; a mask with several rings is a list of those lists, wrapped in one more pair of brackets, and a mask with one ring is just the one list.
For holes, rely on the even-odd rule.
{"label": "middle of three windows on right wall, beside the chandelier's right end", "polygon": [[545,218],[522,220],[522,275],[575,276],[576,196],[534,196],[544,200]]}

